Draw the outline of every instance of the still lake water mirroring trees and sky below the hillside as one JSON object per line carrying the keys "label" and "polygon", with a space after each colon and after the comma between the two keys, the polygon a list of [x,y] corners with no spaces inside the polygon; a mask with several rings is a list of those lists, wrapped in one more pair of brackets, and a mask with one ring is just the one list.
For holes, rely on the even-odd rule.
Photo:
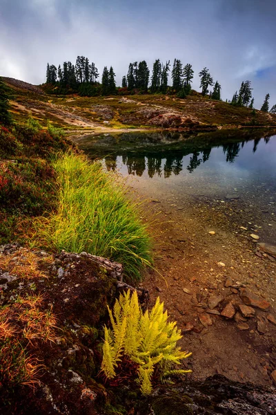
{"label": "still lake water mirroring trees and sky below the hillside", "polygon": [[[275,131],[274,131],[275,133]],[[272,131],[121,133],[77,140],[143,194],[178,203],[226,203],[276,244],[276,135]]]}

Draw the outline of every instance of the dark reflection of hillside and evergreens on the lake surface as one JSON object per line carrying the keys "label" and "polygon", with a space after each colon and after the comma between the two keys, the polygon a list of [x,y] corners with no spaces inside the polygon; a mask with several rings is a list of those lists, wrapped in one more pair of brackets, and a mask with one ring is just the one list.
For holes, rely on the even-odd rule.
{"label": "dark reflection of hillside and evergreens on the lake surface", "polygon": [[122,133],[86,136],[78,145],[92,158],[103,158],[108,170],[117,169],[119,160],[119,167],[126,166],[128,174],[142,176],[147,172],[150,178],[169,178],[184,169],[195,172],[211,158],[212,149],[221,148],[224,161],[234,163],[246,143],[253,142],[255,154],[259,143],[268,144],[271,136],[270,131],[215,131],[193,136],[174,132]]}

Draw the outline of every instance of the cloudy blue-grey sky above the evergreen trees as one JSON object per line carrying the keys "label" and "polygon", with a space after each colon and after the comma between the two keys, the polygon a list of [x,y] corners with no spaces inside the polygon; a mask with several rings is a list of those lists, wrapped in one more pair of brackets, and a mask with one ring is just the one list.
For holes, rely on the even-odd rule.
{"label": "cloudy blue-grey sky above the evergreen trees", "polygon": [[[250,80],[259,109],[276,104],[276,0],[0,0],[0,75],[46,81],[46,65],[113,66],[117,86],[130,62],[181,59],[204,66],[232,99]],[[172,67],[172,66],[171,66]]]}

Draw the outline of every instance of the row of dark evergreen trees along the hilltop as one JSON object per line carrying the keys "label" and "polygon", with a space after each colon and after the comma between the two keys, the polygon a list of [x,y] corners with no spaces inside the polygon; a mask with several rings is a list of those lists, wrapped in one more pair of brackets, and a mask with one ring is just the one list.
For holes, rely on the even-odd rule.
{"label": "row of dark evergreen trees along the hilltop", "polygon": [[[192,91],[194,70],[191,64],[182,64],[180,59],[174,59],[170,70],[170,61],[166,64],[156,59],[152,66],[152,75],[145,60],[130,62],[128,72],[121,80],[121,88],[116,86],[115,72],[110,66],[103,68],[101,82],[99,71],[94,62],[89,62],[88,57],[78,56],[75,65],[72,62],[63,62],[58,68],[47,64],[46,84],[55,85],[55,93],[77,92],[79,95],[115,95],[116,93],[175,93],[177,98],[185,98]],[[201,94],[208,95],[213,100],[221,100],[221,85],[214,82],[208,68],[204,67],[199,72]],[[168,85],[171,77],[172,85]],[[211,88],[213,87],[213,88]],[[253,88],[251,82],[242,82],[239,93],[235,91],[231,101],[226,100],[237,107],[249,107],[254,109]],[[266,94],[261,111],[269,111],[269,94]],[[276,104],[270,109],[270,113],[276,113]]]}

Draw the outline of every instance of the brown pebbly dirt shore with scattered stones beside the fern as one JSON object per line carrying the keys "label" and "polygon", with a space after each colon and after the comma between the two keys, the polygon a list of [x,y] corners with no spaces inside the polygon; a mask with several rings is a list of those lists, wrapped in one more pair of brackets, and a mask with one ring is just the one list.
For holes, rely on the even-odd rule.
{"label": "brown pebbly dirt shore with scattered stones beside the fern", "polygon": [[[257,252],[248,232],[227,215],[226,205],[212,208],[192,196],[179,200],[170,194],[157,200],[160,193],[148,181],[128,181],[138,195],[149,198],[144,219],[155,218],[151,228],[159,244],[155,262],[159,273],[151,271],[142,285],[149,288],[152,304],[157,296],[164,301],[184,333],[182,347],[193,351],[187,362],[193,369],[190,376],[224,374],[271,385],[276,326],[267,317],[276,316],[276,261]],[[265,298],[269,310],[254,308],[250,318],[237,313],[245,290]],[[213,308],[211,300],[220,302]],[[230,302],[235,318],[220,315]]]}

